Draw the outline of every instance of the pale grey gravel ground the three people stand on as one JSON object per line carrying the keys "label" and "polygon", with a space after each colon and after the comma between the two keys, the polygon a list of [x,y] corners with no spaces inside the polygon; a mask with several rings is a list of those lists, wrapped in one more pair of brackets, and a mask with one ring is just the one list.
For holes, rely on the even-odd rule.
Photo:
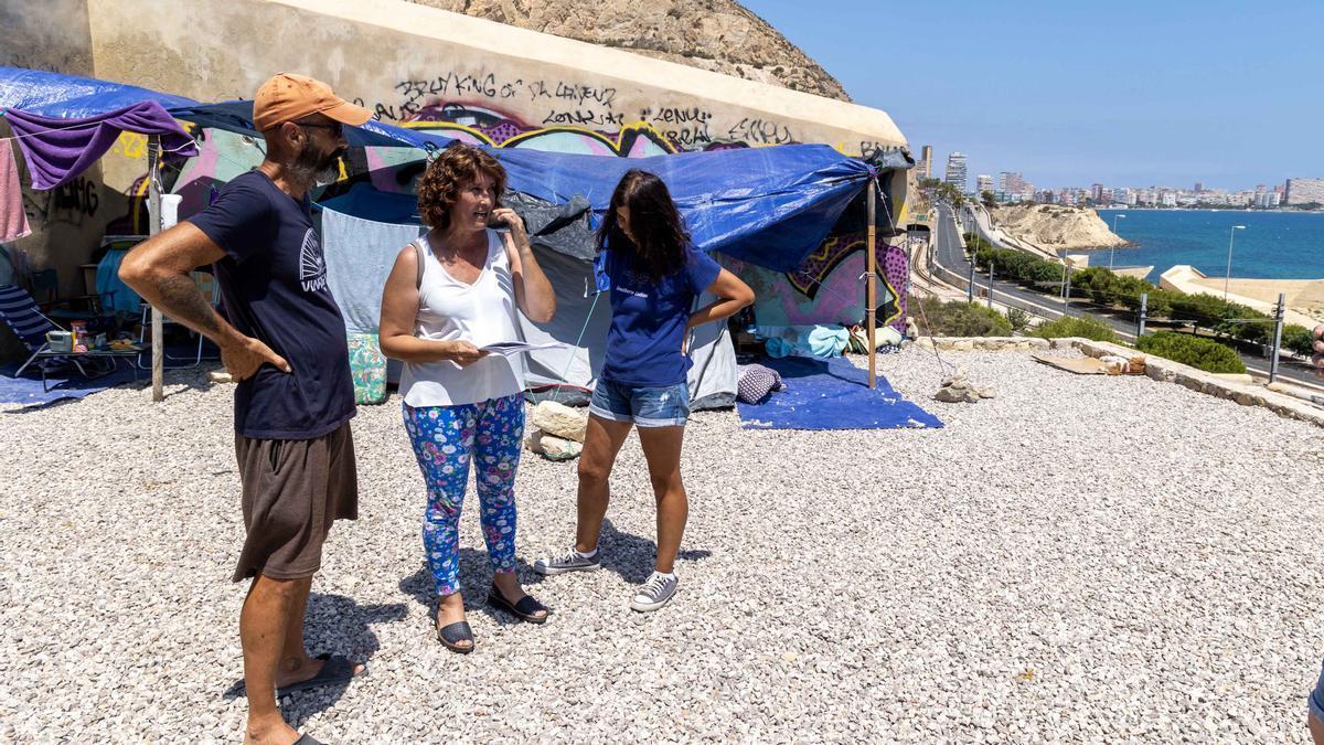
{"label": "pale grey gravel ground the three people stand on", "polygon": [[[681,591],[628,608],[650,566],[632,437],[604,571],[539,578],[575,468],[527,456],[520,562],[544,627],[481,603],[434,640],[422,484],[399,402],[361,408],[361,516],[331,534],[312,652],[367,659],[283,701],[334,742],[1305,742],[1324,654],[1324,431],[1147,378],[944,353],[1000,398],[928,399],[932,353],[880,358],[944,430],[687,431]],[[230,388],[118,388],[0,414],[0,741],[238,741],[242,528]],[[473,496],[469,497],[474,500]]]}

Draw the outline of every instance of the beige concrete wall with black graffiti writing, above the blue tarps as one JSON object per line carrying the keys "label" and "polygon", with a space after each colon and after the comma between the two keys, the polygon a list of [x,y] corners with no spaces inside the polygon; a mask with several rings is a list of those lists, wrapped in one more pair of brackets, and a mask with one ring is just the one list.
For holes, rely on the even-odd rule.
{"label": "beige concrete wall with black graffiti writing, above the blue tarps", "polygon": [[[303,72],[388,121],[429,99],[526,123],[645,122],[686,148],[906,141],[883,111],[399,0],[87,0],[95,70],[200,99]],[[144,50],[150,50],[144,53]]]}

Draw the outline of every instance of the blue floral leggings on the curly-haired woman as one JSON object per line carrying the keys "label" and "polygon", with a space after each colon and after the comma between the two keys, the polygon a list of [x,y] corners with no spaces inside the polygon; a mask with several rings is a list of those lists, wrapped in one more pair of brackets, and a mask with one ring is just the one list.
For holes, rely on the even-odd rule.
{"label": "blue floral leggings on the curly-haired woman", "polygon": [[524,433],[524,396],[461,406],[404,406],[405,430],[428,484],[422,545],[438,595],[459,590],[459,508],[469,464],[478,467],[478,504],[493,571],[515,571],[515,469]]}

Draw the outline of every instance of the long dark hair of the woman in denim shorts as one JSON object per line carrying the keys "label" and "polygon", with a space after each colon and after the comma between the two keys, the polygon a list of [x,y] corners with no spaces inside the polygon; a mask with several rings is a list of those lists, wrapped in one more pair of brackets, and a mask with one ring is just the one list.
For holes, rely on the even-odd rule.
{"label": "long dark hair of the woman in denim shorts", "polygon": [[[621,229],[617,207],[630,211],[630,232],[637,241]],[[597,249],[610,247],[629,255],[636,270],[658,281],[685,266],[688,245],[690,233],[662,179],[638,168],[626,171],[612,192],[612,205],[597,231]]]}

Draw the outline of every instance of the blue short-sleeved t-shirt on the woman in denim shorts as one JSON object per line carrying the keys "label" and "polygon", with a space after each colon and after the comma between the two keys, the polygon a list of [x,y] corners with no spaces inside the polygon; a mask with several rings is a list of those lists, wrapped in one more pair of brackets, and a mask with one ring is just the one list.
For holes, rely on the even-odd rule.
{"label": "blue short-sleeved t-shirt on the woman in denim shorts", "polygon": [[681,353],[694,298],[722,272],[707,253],[686,248],[685,266],[654,282],[632,266],[629,255],[608,251],[604,269],[612,280],[612,327],[606,333],[604,380],[626,386],[675,386],[690,372]]}

